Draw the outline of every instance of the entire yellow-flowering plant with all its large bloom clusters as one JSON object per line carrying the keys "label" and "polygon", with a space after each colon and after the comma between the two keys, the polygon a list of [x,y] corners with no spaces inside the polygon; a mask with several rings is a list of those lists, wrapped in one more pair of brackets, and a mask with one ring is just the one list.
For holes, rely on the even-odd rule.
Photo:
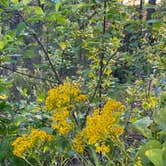
{"label": "entire yellow-flowering plant with all its large bloom clusters", "polygon": [[[117,142],[123,133],[123,127],[118,125],[118,121],[124,106],[121,102],[109,99],[103,108],[95,109],[84,117],[85,125],[82,126],[77,122],[80,118],[77,113],[79,105],[86,99],[79,85],[69,81],[50,89],[46,98],[46,109],[51,116],[50,129],[55,132],[49,135],[45,131],[32,129],[30,134],[23,134],[13,141],[13,154],[24,159],[28,156],[33,158],[35,148],[41,156],[48,152],[50,156],[55,157],[58,153],[70,153],[70,151],[84,155],[88,147],[103,155],[110,153],[111,147],[108,142]],[[78,110],[75,111],[76,109]],[[58,139],[60,145],[67,140],[69,148],[65,145],[63,151],[61,147],[58,149],[56,147]],[[46,148],[45,143],[49,142]],[[44,159],[39,157],[37,160],[38,163],[42,163],[40,160]]]}

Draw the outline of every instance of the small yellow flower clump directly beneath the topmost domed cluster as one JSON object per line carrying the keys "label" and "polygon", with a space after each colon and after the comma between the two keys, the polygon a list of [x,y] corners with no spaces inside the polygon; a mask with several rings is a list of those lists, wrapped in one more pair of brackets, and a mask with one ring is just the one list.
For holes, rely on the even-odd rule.
{"label": "small yellow flower clump directly beneath the topmost domed cluster", "polygon": [[58,130],[60,134],[67,134],[73,127],[73,122],[69,119],[69,111],[57,111],[53,115],[52,128]]}

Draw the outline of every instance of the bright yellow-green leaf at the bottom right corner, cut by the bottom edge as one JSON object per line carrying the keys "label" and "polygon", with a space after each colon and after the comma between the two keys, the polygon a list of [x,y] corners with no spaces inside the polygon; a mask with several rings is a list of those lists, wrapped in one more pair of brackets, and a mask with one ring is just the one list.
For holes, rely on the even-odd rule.
{"label": "bright yellow-green leaf at the bottom right corner, cut by the bottom edge", "polygon": [[145,155],[155,166],[164,166],[162,154],[161,149],[150,149],[145,152]]}

